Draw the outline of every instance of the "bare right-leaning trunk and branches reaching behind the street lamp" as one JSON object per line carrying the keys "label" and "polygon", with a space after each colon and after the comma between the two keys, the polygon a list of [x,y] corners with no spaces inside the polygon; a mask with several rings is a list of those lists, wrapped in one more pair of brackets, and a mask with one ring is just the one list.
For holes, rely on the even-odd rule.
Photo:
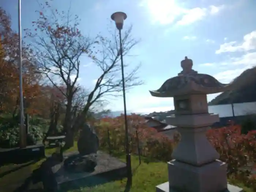
{"label": "bare right-leaning trunk and branches reaching behind the street lamp", "polygon": [[[119,37],[115,30],[109,31],[111,38],[104,38],[99,36],[98,53],[95,54],[94,63],[97,65],[102,74],[99,76],[95,83],[94,89],[88,94],[86,105],[83,112],[76,119],[76,123],[72,127],[73,130],[77,130],[86,121],[86,114],[90,107],[95,102],[104,102],[104,98],[118,97],[122,92],[122,79],[121,79],[121,64],[120,64],[120,47]],[[129,51],[138,44],[138,40],[132,38],[131,35],[132,26],[124,32],[122,44],[123,44],[123,56],[126,56]],[[127,65],[125,65],[127,67]],[[134,86],[141,85],[143,82],[139,80],[137,75],[140,65],[137,65],[129,73],[125,75],[125,88],[130,89]]]}

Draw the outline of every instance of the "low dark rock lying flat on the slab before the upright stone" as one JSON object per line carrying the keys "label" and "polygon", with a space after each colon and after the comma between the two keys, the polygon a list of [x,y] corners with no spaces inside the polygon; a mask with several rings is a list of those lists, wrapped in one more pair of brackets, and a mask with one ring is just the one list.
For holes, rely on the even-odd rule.
{"label": "low dark rock lying flat on the slab before the upright stone", "polygon": [[70,172],[93,172],[97,166],[97,155],[73,155],[64,161],[64,167]]}

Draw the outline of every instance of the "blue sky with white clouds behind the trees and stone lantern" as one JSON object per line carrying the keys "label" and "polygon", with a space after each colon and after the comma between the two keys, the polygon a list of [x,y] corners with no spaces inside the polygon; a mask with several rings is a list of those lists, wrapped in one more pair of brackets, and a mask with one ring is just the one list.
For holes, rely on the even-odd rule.
{"label": "blue sky with white clouds behind the trees and stone lantern", "polygon": [[[41,2],[40,0],[38,0]],[[7,3],[8,2],[8,3]],[[43,1],[42,1],[43,2]],[[148,90],[158,89],[165,80],[180,71],[184,56],[193,60],[193,69],[214,76],[223,83],[256,64],[256,1],[255,0],[72,0],[71,12],[82,21],[83,34],[107,35],[110,15],[127,14],[124,28],[133,25],[133,37],[140,43],[124,62],[130,68],[141,63],[139,75],[145,84],[127,93],[127,109],[132,112],[153,112],[173,109],[172,98],[151,97]],[[67,11],[70,0],[54,0],[53,8]],[[18,26],[18,0],[2,0],[12,17],[13,29]],[[37,1],[22,0],[22,28],[30,28],[40,10]],[[114,27],[114,23],[112,23]],[[99,73],[89,59],[82,59],[79,84],[92,87]],[[127,69],[129,70],[129,68]],[[208,100],[216,94],[208,95]],[[107,106],[123,110],[122,98]]]}

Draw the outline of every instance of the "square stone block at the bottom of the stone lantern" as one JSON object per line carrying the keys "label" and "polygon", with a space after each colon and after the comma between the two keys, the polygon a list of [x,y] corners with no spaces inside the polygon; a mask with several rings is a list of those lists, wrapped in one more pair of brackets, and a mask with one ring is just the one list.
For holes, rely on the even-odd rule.
{"label": "square stone block at the bottom of the stone lantern", "polygon": [[202,166],[168,162],[169,184],[182,192],[220,192],[227,188],[226,163],[216,160]]}

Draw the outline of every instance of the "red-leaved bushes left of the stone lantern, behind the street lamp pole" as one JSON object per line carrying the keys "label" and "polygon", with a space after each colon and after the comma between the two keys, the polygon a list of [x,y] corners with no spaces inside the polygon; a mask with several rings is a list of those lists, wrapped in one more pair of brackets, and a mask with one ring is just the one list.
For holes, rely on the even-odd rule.
{"label": "red-leaved bushes left of the stone lantern, behind the street lamp pole", "polygon": [[[173,142],[165,135],[158,133],[154,128],[148,127],[143,117],[136,114],[131,114],[127,117],[129,122],[128,129],[131,153],[138,154],[139,142],[140,153],[143,156],[169,161],[172,155]],[[113,151],[125,150],[123,115],[116,118],[102,118],[95,127],[98,132],[101,147],[110,147],[110,150]]]}

